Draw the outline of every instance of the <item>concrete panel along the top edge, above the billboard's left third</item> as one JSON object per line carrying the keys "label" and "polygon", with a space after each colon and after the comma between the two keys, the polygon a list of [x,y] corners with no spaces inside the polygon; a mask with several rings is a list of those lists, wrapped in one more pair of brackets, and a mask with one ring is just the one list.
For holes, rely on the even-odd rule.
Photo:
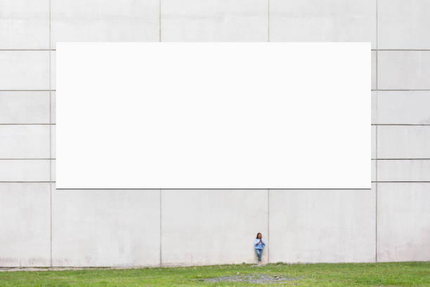
{"label": "concrete panel along the top edge, above the billboard's left third", "polygon": [[56,42],[157,42],[159,0],[51,1],[51,48]]}

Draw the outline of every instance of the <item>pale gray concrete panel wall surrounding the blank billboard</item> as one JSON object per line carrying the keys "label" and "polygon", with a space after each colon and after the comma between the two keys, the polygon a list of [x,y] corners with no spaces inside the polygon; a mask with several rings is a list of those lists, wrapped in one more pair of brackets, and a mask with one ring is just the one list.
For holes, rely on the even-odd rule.
{"label": "pale gray concrete panel wall surrounding the blank billboard", "polygon": [[[429,0],[0,0],[0,11],[0,266],[253,262],[257,231],[266,262],[430,260]],[[372,42],[372,190],[56,191],[58,41]]]}

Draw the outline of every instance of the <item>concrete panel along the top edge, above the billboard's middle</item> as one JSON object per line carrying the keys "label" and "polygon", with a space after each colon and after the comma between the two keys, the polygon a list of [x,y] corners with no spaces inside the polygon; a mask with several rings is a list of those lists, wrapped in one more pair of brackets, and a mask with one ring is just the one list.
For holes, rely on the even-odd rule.
{"label": "concrete panel along the top edge, above the billboard's middle", "polygon": [[163,0],[163,42],[267,42],[266,0]]}

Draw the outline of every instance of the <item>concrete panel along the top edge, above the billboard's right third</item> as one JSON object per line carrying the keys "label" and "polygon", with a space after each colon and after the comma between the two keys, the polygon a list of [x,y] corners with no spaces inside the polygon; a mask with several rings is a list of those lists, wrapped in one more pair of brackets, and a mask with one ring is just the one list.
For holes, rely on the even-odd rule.
{"label": "concrete panel along the top edge, above the billboard's right third", "polygon": [[271,0],[271,41],[372,42],[375,0]]}

